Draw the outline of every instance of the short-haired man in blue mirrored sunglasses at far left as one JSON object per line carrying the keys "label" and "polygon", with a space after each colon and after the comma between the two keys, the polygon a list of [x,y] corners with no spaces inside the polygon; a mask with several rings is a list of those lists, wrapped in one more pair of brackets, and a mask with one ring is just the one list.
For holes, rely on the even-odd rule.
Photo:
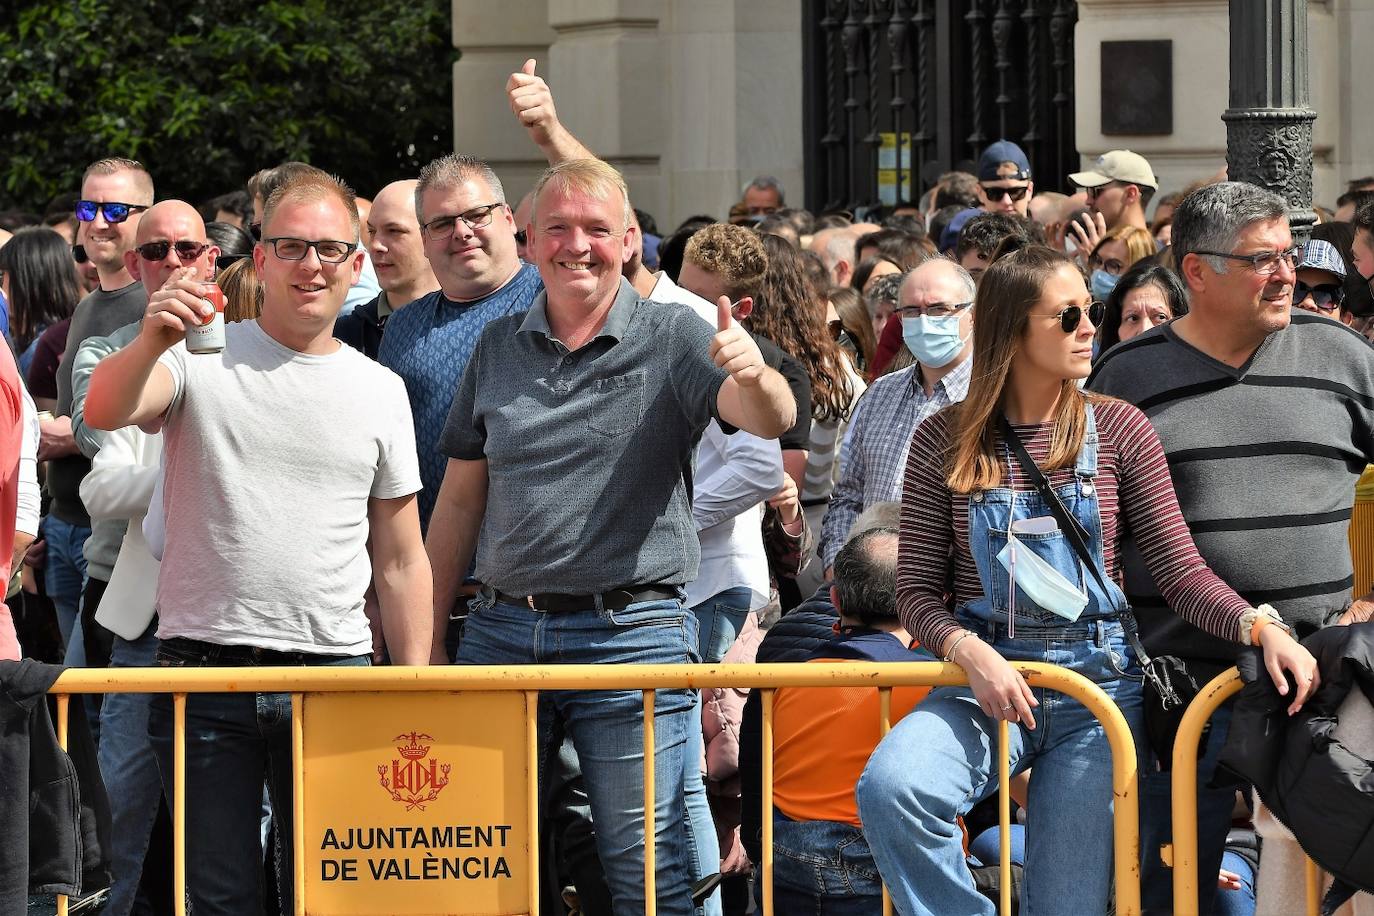
{"label": "short-haired man in blue mirrored sunglasses at far left", "polygon": [[81,481],[91,470],[91,459],[73,437],[71,364],[87,338],[110,334],[143,314],[147,293],[129,273],[125,255],[136,244],[139,222],[150,206],[153,179],[133,159],[100,159],[91,163],[81,179],[81,199],[76,207],[81,222],[78,240],[95,264],[100,286],[81,299],[71,314],[67,349],[58,365],[55,419],[43,422],[38,439],[38,459],[48,461],[48,492],[52,496],[43,527],[48,542],[44,577],[63,639],[67,640],[69,665],[85,662],[82,641],[71,636],[87,584],[87,563],[93,556],[99,578],[109,580],[114,551],[118,549],[118,540],[98,540],[91,551],[85,549],[91,537],[91,515],[81,501]]}

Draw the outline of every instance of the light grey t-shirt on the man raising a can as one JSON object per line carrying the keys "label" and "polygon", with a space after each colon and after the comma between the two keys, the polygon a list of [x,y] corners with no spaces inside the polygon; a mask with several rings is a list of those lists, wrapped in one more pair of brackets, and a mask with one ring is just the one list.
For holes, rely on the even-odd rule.
{"label": "light grey t-shirt on the man raising a can", "polygon": [[363,655],[368,499],[420,489],[400,378],[357,350],[309,356],[257,321],[217,354],[162,356],[166,549],[158,636]]}

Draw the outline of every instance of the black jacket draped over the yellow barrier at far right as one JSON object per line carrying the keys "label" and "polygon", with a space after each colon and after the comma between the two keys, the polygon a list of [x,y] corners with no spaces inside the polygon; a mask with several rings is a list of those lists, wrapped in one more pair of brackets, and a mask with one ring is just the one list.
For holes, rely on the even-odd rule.
{"label": "black jacket draped over the yellow barrier at far right", "polygon": [[1293,717],[1260,651],[1237,659],[1245,687],[1220,764],[1254,784],[1322,868],[1374,891],[1374,622],[1331,626],[1303,644],[1322,685]]}

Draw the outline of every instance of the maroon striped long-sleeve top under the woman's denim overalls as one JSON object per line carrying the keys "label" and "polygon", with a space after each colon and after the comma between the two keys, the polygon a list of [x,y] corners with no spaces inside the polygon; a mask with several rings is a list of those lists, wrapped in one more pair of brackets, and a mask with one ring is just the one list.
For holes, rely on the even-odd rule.
{"label": "maroon striped long-sleeve top under the woman's denim overalls", "polygon": [[[1169,604],[1213,636],[1237,640],[1249,604],[1223,582],[1193,545],[1169,466],[1150,422],[1123,401],[1099,402],[1098,472],[1094,489],[1102,516],[1106,574],[1121,581],[1120,548],[1127,527]],[[1030,457],[1043,464],[1050,452],[1051,423],[1017,426]],[[982,597],[978,569],[969,551],[969,496],[945,482],[949,411],[916,428],[901,492],[901,541],[897,553],[897,614],[922,645],[938,652],[960,629],[954,607]],[[1002,486],[1032,489],[1021,468],[1009,467],[1002,437]],[[1047,474],[1052,486],[1073,481],[1073,468]],[[954,593],[948,597],[949,566]]]}

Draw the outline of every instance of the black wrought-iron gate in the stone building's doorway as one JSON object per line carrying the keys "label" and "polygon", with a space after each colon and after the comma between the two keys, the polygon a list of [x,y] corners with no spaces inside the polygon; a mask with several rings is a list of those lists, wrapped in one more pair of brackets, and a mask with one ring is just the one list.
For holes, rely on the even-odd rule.
{"label": "black wrought-iron gate in the stone building's doorway", "polygon": [[1074,0],[804,0],[807,205],[915,199],[1006,137],[1062,190]]}

